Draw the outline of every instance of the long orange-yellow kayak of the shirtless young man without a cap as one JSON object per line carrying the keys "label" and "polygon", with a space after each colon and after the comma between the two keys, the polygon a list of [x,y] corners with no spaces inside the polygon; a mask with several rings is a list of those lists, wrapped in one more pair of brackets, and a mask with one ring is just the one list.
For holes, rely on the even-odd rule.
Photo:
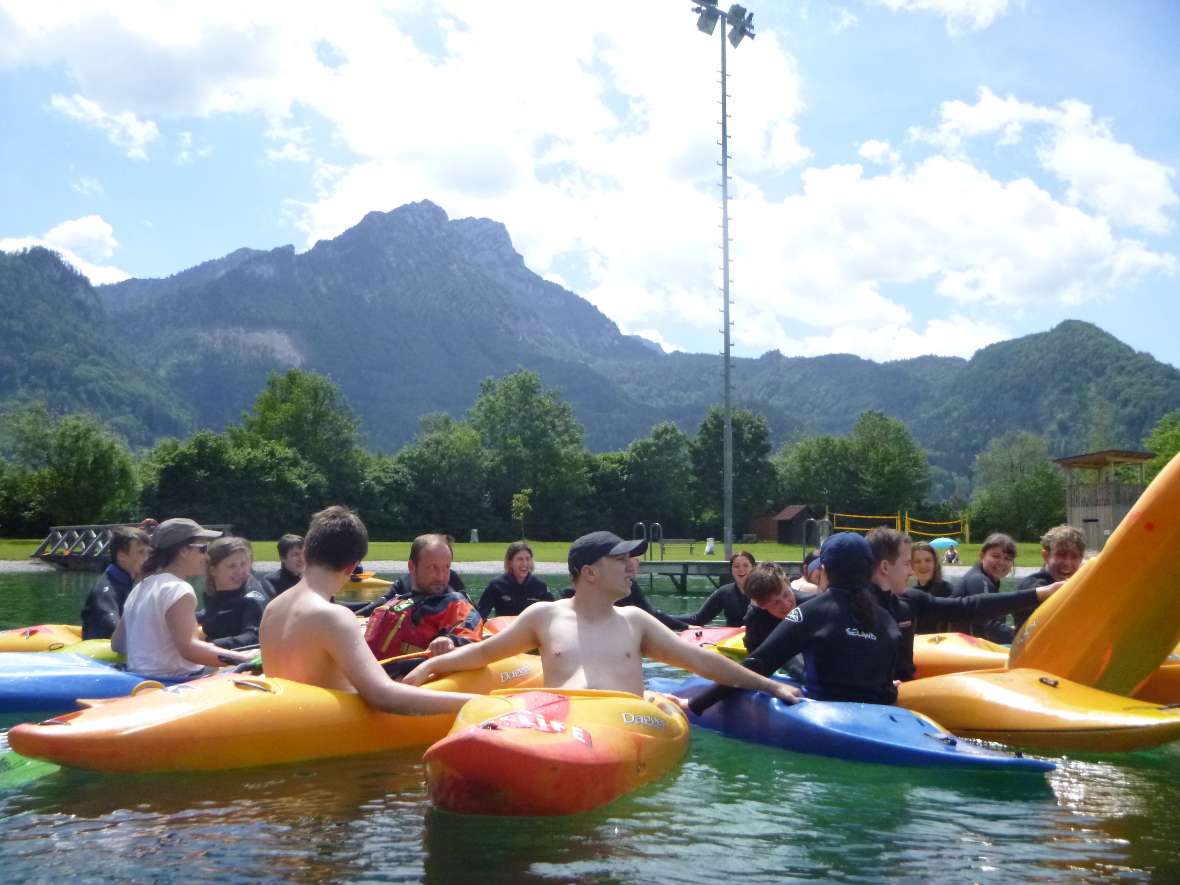
{"label": "long orange-yellow kayak of the shirtless young man without a cap", "polygon": [[[519,655],[430,687],[478,694],[542,681],[540,660]],[[218,771],[427,745],[454,721],[379,713],[349,691],[238,674],[91,703],[14,727],[12,748],[104,772]]]}

